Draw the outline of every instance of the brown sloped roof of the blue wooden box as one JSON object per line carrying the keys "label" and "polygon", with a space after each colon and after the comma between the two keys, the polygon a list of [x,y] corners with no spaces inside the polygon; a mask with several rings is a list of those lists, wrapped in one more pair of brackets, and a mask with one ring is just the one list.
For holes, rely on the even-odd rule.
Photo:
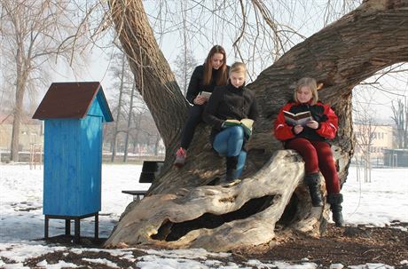
{"label": "brown sloped roof of the blue wooden box", "polygon": [[51,83],[33,119],[83,118],[98,100],[104,122],[113,122],[102,86],[98,82]]}

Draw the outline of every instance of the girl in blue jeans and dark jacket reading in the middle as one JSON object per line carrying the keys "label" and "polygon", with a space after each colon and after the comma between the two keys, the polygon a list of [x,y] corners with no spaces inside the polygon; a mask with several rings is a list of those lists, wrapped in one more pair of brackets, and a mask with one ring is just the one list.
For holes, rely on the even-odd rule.
{"label": "girl in blue jeans and dark jacket reading in the middle", "polygon": [[230,126],[227,120],[254,120],[258,116],[255,94],[245,87],[247,67],[241,62],[230,68],[229,81],[216,87],[208,99],[203,120],[212,125],[211,142],[220,156],[226,157],[226,180],[239,178],[245,166],[249,138],[241,125]]}

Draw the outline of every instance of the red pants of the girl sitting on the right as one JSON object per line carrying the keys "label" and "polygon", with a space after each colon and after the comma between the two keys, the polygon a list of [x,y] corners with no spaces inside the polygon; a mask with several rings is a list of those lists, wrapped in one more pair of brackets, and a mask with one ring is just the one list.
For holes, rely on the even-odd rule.
{"label": "red pants of the girl sitting on the right", "polygon": [[306,174],[322,172],[326,181],[327,194],[340,194],[340,181],[337,175],[330,145],[322,141],[294,138],[286,142],[287,149],[294,149],[302,155]]}

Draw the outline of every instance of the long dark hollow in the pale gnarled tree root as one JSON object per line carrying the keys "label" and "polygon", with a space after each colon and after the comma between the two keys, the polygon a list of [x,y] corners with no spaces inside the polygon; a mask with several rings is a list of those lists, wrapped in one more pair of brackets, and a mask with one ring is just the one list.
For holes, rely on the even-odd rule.
{"label": "long dark hollow in the pale gnarled tree root", "polygon": [[202,228],[215,229],[224,223],[237,219],[244,219],[266,210],[272,204],[273,195],[265,195],[260,198],[251,199],[239,210],[235,210],[224,215],[205,213],[200,218],[173,223],[169,220],[163,222],[157,234],[152,235],[152,239],[160,241],[177,241],[186,233]]}

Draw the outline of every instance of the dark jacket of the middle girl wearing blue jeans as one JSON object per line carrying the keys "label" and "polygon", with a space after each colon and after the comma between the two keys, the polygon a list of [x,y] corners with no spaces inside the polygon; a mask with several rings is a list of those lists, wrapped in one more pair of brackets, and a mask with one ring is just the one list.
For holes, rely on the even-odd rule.
{"label": "dark jacket of the middle girl wearing blue jeans", "polygon": [[218,86],[208,99],[207,107],[202,118],[204,122],[213,126],[211,140],[219,131],[225,120],[242,120],[245,118],[256,120],[258,109],[255,94],[245,86],[235,88],[228,83]]}

